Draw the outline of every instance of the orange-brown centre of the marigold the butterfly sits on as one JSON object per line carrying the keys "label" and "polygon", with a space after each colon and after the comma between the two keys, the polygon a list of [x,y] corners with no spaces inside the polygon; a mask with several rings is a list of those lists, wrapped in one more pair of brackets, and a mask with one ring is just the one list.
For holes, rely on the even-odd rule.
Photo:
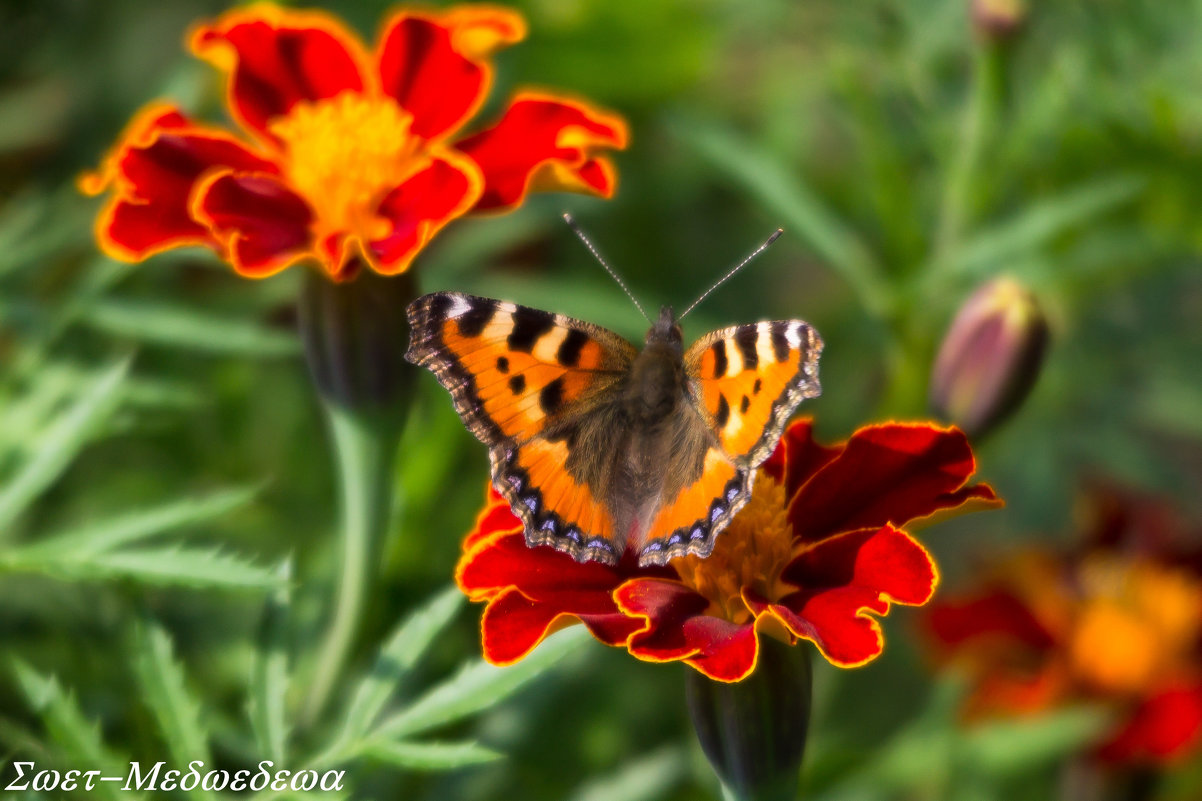
{"label": "orange-brown centre of the marigold the butterfly sits on", "polygon": [[680,581],[710,601],[710,613],[743,624],[752,618],[743,603],[744,588],[769,600],[780,598],[780,574],[793,556],[785,508],[785,488],[761,471],[750,500],[718,535],[713,552],[672,562]]}

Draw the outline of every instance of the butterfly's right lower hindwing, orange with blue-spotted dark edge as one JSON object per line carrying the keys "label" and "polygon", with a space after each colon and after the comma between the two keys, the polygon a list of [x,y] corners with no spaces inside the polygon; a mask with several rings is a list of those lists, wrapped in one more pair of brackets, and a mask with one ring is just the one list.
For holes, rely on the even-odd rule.
{"label": "butterfly's right lower hindwing, orange with blue-spotted dark edge", "polygon": [[666,500],[643,533],[638,564],[667,564],[685,553],[709,556],[714,535],[751,497],[754,475],[718,449],[706,451],[701,477]]}

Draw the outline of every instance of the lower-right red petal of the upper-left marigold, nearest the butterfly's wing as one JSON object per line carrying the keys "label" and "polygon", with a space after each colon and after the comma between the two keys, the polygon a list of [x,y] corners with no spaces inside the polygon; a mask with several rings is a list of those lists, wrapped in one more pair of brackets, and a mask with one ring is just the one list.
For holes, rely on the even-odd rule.
{"label": "lower-right red petal of the upper-left marigold, nearest the butterfly's wing", "polygon": [[379,213],[392,230],[369,244],[371,267],[385,275],[409,269],[435,233],[471,209],[482,189],[483,179],[470,159],[438,153],[381,201]]}

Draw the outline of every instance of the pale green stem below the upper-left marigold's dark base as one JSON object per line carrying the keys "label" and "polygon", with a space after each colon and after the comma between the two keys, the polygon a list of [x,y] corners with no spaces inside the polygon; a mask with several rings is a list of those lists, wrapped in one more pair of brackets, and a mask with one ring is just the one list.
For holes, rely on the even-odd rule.
{"label": "pale green stem below the upper-left marigold's dark base", "polygon": [[392,506],[395,426],[385,416],[326,402],[339,475],[341,569],[334,613],[317,652],[304,720],[321,716],[355,643]]}

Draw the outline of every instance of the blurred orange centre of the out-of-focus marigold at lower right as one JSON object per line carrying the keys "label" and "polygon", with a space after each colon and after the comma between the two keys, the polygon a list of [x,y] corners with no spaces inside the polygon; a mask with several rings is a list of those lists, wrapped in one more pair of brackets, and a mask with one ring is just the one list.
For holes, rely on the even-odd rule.
{"label": "blurred orange centre of the out-of-focus marigold at lower right", "polygon": [[1084,605],[1070,640],[1078,675],[1138,693],[1189,659],[1202,634],[1202,582],[1148,562],[1099,557],[1079,574]]}

